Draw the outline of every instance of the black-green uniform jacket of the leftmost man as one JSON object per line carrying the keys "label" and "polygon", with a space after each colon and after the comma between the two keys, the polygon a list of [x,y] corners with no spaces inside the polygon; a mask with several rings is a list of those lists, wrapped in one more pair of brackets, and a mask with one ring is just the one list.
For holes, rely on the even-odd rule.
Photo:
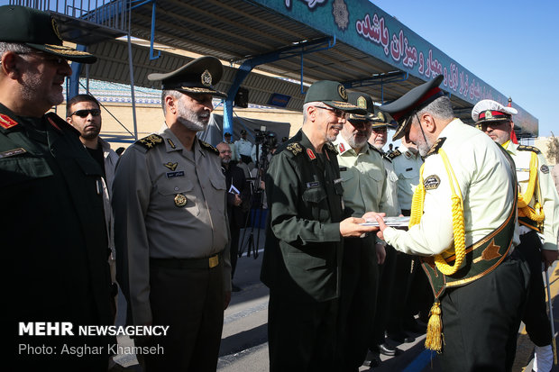
{"label": "black-green uniform jacket of the leftmost man", "polygon": [[[23,118],[0,104],[0,232],[5,272],[12,273],[4,283],[14,336],[18,322],[72,322],[75,336],[68,340],[74,342],[80,340],[78,325],[114,319],[102,173],[78,135],[54,113]],[[66,340],[52,339],[28,340],[47,346]],[[90,346],[104,343],[105,350],[112,340],[86,338]],[[63,370],[60,350],[55,359]]]}

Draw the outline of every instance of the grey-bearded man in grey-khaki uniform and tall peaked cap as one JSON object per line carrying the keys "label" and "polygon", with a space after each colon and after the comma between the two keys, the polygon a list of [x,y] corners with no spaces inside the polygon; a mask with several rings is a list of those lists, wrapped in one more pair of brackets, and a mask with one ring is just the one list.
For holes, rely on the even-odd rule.
{"label": "grey-bearded man in grey-khaki uniform and tall peaked cap", "polygon": [[213,111],[219,59],[201,57],[162,82],[165,124],[134,143],[113,187],[117,277],[128,322],[169,325],[142,340],[148,371],[215,371],[224,310],[231,298],[225,176],[219,151],[197,139]]}

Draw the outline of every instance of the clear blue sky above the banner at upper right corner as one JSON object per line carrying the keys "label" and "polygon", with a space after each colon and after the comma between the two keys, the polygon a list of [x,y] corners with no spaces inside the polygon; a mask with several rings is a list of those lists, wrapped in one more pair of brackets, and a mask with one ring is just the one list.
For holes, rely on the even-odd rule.
{"label": "clear blue sky above the banner at upper right corner", "polygon": [[[351,1],[351,0],[350,0]],[[371,0],[559,136],[559,2]]]}

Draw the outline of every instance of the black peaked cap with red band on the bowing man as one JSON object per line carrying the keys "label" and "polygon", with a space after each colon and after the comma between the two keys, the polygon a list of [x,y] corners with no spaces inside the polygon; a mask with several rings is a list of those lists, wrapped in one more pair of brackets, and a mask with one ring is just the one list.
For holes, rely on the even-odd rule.
{"label": "black peaked cap with red band on the bowing man", "polygon": [[392,115],[394,120],[398,122],[398,128],[392,141],[399,140],[404,137],[406,127],[411,122],[410,118],[414,113],[421,110],[427,104],[435,101],[436,98],[444,95],[444,92],[439,88],[443,82],[443,76],[439,75],[426,83],[416,86],[405,95],[402,95],[396,101],[390,104],[383,104],[380,106],[382,111]]}

